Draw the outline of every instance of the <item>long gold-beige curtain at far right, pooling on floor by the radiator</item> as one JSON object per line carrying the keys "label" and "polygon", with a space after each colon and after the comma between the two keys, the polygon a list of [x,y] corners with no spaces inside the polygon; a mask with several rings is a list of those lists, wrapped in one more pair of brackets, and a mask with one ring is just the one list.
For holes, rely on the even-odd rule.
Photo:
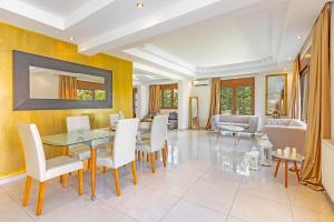
{"label": "long gold-beige curtain at far right, pooling on floor by the radiator", "polygon": [[305,161],[302,165],[302,183],[314,190],[323,189],[321,141],[331,137],[330,24],[331,4],[327,3],[312,31]]}

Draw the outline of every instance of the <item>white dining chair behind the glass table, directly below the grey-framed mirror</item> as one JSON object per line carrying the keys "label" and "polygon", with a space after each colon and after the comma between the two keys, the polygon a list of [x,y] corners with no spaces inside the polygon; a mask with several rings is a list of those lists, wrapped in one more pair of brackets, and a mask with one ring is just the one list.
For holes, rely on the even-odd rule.
{"label": "white dining chair behind the glass table, directly below the grey-framed mirror", "polygon": [[[66,118],[67,132],[76,132],[82,130],[90,130],[89,117],[67,117]],[[104,152],[105,147],[98,147],[97,153]],[[90,148],[87,144],[78,143],[68,147],[68,153],[78,160],[89,160],[90,159]]]}

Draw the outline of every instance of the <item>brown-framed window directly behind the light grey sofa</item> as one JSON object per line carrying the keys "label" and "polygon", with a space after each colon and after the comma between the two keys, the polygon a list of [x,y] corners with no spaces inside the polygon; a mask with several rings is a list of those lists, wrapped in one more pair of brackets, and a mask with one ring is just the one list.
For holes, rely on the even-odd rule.
{"label": "brown-framed window directly behind the light grey sofa", "polygon": [[220,113],[254,114],[254,78],[220,81]]}

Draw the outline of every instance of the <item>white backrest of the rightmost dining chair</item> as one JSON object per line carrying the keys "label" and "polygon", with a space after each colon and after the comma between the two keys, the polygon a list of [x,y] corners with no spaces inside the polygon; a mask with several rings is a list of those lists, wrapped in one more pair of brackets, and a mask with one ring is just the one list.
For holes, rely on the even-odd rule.
{"label": "white backrest of the rightmost dining chair", "polygon": [[166,141],[168,115],[156,115],[151,123],[150,151],[161,150]]}

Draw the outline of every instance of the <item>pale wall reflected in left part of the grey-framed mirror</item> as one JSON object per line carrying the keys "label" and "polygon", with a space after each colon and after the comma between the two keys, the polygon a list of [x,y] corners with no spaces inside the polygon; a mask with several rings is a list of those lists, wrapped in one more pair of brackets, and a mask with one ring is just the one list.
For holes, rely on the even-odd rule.
{"label": "pale wall reflected in left part of the grey-framed mirror", "polygon": [[59,75],[43,72],[30,74],[30,98],[59,99]]}

